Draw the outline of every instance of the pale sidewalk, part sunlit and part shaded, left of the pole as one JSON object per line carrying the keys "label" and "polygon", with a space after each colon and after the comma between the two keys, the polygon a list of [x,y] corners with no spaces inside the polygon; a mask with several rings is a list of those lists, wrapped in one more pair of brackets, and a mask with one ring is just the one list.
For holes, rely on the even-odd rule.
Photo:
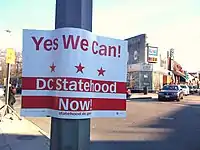
{"label": "pale sidewalk, part sunlit and part shaded, left of the pole", "polygon": [[0,122],[0,150],[49,150],[49,139],[28,120],[9,114]]}

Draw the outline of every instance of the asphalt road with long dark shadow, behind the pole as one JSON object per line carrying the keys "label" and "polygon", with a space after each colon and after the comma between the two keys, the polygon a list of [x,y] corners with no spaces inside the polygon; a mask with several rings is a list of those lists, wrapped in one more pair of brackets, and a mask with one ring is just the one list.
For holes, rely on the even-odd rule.
{"label": "asphalt road with long dark shadow, behind the pole", "polygon": [[[19,111],[20,98],[15,107]],[[92,119],[91,150],[200,150],[200,96],[134,100],[127,107],[124,119]],[[50,132],[50,118],[28,119]]]}

